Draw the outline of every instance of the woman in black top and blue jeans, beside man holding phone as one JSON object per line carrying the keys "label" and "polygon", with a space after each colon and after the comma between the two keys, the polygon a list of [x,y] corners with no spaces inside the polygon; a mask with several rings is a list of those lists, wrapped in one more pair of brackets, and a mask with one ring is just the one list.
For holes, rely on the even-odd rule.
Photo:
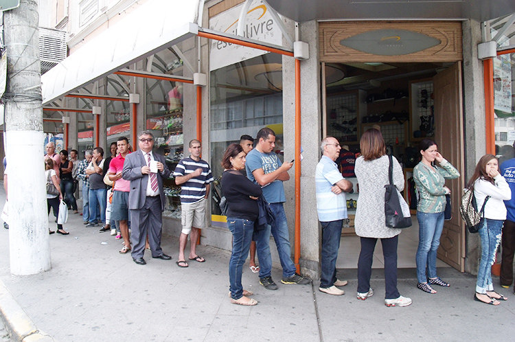
{"label": "woman in black top and blue jeans, beside man holding phone", "polygon": [[250,291],[242,286],[243,264],[249,255],[254,221],[258,218],[258,197],[262,190],[247,179],[241,170],[245,168],[245,152],[240,144],[231,144],[222,158],[222,192],[227,200],[227,227],[233,234],[233,249],[229,261],[229,293],[232,304],[253,306],[258,304]]}

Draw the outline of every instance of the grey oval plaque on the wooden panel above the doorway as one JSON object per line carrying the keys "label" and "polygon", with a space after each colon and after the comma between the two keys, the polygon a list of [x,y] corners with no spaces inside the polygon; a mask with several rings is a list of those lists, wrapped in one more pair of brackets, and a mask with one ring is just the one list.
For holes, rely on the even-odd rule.
{"label": "grey oval plaque on the wooden panel above the doorway", "polygon": [[367,54],[401,56],[442,43],[436,38],[408,30],[374,30],[342,39],[340,44]]}

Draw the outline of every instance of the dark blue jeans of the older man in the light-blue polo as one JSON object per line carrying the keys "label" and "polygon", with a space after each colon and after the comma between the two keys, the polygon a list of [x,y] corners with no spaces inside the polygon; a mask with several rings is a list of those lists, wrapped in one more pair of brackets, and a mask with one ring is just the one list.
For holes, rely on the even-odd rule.
{"label": "dark blue jeans of the older man in the light-blue polo", "polygon": [[343,220],[321,222],[322,225],[322,255],[320,287],[330,288],[336,282],[336,258],[340,248],[341,229]]}

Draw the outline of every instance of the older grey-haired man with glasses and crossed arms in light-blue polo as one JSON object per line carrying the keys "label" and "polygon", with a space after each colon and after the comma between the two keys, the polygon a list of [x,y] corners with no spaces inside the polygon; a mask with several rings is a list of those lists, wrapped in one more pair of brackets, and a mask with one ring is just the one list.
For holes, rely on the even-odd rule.
{"label": "older grey-haired man with glasses and crossed arms in light-blue polo", "polygon": [[314,173],[317,187],[317,212],[322,225],[321,277],[319,290],[329,295],[343,295],[336,286],[347,285],[347,280],[336,278],[336,258],[340,248],[343,220],[347,218],[345,193],[352,183],[343,178],[334,161],[340,155],[340,144],[334,137],[326,137],[320,146],[322,157]]}

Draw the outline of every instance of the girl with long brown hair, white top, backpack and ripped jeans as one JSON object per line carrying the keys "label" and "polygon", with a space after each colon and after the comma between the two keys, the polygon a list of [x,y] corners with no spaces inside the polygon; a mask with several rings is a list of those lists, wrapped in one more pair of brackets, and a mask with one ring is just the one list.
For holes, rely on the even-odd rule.
{"label": "girl with long brown hair, white top, backpack and ripped jeans", "polygon": [[484,218],[479,223],[481,262],[477,271],[474,300],[499,305],[500,300],[507,298],[494,291],[492,265],[501,242],[501,228],[506,219],[503,201],[512,198],[512,191],[504,177],[499,174],[499,161],[494,155],[484,155],[479,159],[474,175],[468,181],[468,187],[474,190],[478,211],[483,207],[486,196],[490,196],[485,204]]}

